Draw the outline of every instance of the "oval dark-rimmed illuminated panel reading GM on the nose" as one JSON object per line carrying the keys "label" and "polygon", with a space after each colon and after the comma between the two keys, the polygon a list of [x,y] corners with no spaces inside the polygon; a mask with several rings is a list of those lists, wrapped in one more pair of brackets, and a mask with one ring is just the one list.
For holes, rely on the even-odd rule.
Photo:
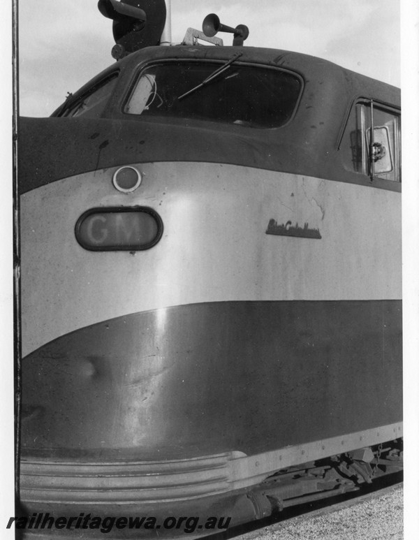
{"label": "oval dark-rimmed illuminated panel reading GM on the nose", "polygon": [[75,225],[75,238],[90,251],[140,251],[163,234],[159,214],[147,207],[94,208]]}

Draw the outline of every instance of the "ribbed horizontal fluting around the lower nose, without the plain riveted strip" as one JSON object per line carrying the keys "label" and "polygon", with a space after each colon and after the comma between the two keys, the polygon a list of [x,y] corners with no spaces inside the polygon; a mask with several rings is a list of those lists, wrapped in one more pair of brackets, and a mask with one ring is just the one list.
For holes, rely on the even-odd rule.
{"label": "ribbed horizontal fluting around the lower nose, without the plain riveted strip", "polygon": [[222,453],[189,460],[153,462],[21,462],[25,502],[163,502],[227,492],[228,460]]}

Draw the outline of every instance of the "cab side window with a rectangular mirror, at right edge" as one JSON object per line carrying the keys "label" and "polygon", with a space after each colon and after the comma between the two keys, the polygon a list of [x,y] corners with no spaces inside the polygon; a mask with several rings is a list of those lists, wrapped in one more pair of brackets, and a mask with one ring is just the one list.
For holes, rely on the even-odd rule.
{"label": "cab side window with a rectangular mirror, at right edge", "polygon": [[355,103],[348,117],[339,150],[346,170],[400,182],[399,111],[374,101]]}

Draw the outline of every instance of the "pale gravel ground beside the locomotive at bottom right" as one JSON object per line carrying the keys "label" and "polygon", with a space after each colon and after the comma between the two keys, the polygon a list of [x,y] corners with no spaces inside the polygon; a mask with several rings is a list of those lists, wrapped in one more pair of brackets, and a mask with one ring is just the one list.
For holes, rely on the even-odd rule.
{"label": "pale gravel ground beside the locomotive at bottom right", "polygon": [[[207,539],[401,540],[402,487],[402,473],[391,474],[356,492],[293,506],[275,517],[234,527]],[[359,533],[352,527],[355,523]]]}

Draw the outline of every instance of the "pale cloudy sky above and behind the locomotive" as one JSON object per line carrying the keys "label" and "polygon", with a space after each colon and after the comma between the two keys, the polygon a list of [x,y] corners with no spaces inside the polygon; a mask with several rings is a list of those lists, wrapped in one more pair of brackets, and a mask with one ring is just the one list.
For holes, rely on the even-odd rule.
{"label": "pale cloudy sky above and behind the locomotive", "polygon": [[[249,27],[244,45],[313,54],[400,85],[399,0],[172,0],[171,11],[175,43],[216,13]],[[114,62],[112,21],[97,0],[19,0],[18,22],[20,115],[49,116]]]}

